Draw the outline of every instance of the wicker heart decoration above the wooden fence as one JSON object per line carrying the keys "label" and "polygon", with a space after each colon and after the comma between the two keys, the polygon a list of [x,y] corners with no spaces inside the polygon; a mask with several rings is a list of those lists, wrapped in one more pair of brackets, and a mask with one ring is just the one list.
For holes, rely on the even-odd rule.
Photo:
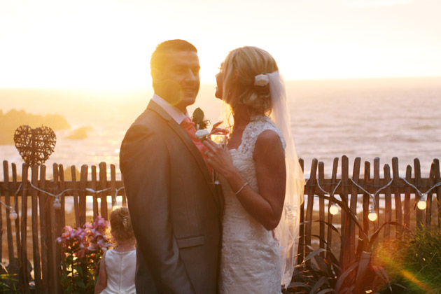
{"label": "wicker heart decoration above the wooden fence", "polygon": [[14,142],[28,165],[42,165],[54,151],[57,136],[50,127],[32,129],[29,125],[20,125],[15,130]]}

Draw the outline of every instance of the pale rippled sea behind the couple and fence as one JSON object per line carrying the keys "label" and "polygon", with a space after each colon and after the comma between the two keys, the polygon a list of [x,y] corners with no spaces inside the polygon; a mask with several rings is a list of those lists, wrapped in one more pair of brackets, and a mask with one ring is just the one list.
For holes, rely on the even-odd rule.
{"label": "pale rippled sea behind the couple and fence", "polygon": [[[356,157],[362,164],[380,158],[381,170],[398,157],[400,176],[405,175],[407,165],[413,165],[414,158],[421,161],[422,176],[428,176],[434,158],[441,159],[441,77],[290,80],[286,87],[291,130],[306,177],[314,158],[324,162],[325,174],[330,174],[333,158],[341,159],[342,155],[348,156],[350,171]],[[189,108],[203,109],[211,123],[221,120],[222,105],[214,98],[214,91],[214,84],[202,84],[196,104]],[[57,162],[80,169],[81,165],[104,161],[117,166],[120,178],[120,143],[152,94],[151,89],[0,89],[0,110],[64,116],[71,130],[55,132],[55,152],[45,164]],[[68,139],[79,127],[90,127],[87,139]],[[10,144],[0,145],[0,159],[18,166],[23,162]]]}

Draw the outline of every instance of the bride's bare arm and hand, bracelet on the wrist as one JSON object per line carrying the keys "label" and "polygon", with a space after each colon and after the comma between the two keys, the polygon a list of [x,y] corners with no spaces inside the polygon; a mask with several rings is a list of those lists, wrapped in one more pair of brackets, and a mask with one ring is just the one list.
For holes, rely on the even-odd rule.
{"label": "bride's bare arm and hand, bracelet on the wrist", "polygon": [[230,153],[223,151],[212,141],[204,141],[209,149],[207,162],[227,179],[237,193],[237,199],[248,214],[251,214],[267,230],[279,224],[285,199],[286,167],[283,147],[279,136],[270,130],[262,132],[253,153],[256,176],[260,193],[249,185],[232,164]]}

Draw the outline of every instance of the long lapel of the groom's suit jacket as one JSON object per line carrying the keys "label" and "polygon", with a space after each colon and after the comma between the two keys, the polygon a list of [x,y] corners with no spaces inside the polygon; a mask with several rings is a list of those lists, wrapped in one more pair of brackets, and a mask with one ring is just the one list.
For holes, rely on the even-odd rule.
{"label": "long lapel of the groom's suit jacket", "polygon": [[197,149],[197,147],[193,143],[192,139],[190,139],[190,137],[188,137],[188,134],[186,133],[186,131],[184,131],[182,129],[182,127],[180,125],[178,125],[178,123],[176,123],[176,121],[171,116],[169,116],[167,111],[162,109],[162,107],[159,106],[156,102],[154,102],[154,101],[149,102],[147,108],[151,109],[152,111],[155,111],[160,116],[162,116],[162,118],[167,120],[169,127],[171,127],[172,130],[174,130],[174,132],[178,135],[178,137],[186,145],[186,147],[188,148],[188,151],[190,151],[190,153],[193,155],[193,157],[195,158],[195,160],[197,162],[197,165],[200,168],[200,171],[204,175],[204,178],[210,187],[211,194],[214,195],[214,197],[216,199],[216,203],[218,203],[218,200],[216,197],[217,193],[216,193],[216,190],[214,189],[214,185],[211,183],[213,180],[211,179],[211,175],[209,173],[209,170],[207,169],[207,165],[205,163],[205,160],[204,160],[204,158],[202,158],[202,154],[199,152],[199,150]]}

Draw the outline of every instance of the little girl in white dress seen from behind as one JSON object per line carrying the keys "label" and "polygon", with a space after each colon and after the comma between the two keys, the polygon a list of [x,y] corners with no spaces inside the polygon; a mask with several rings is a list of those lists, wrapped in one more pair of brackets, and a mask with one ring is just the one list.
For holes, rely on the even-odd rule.
{"label": "little girl in white dress seen from behind", "polygon": [[110,222],[116,247],[106,251],[102,257],[94,294],[136,293],[134,276],[137,253],[127,207],[112,211]]}

